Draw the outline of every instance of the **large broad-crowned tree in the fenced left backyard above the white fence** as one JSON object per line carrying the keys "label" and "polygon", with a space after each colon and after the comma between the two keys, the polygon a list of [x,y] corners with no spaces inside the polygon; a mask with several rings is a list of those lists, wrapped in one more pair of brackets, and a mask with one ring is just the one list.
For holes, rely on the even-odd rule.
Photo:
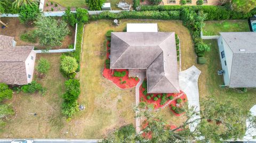
{"label": "large broad-crowned tree in the fenced left backyard above the white fence", "polygon": [[61,41],[69,33],[67,23],[62,20],[57,21],[51,17],[40,16],[35,23],[39,43],[47,48],[61,46]]}

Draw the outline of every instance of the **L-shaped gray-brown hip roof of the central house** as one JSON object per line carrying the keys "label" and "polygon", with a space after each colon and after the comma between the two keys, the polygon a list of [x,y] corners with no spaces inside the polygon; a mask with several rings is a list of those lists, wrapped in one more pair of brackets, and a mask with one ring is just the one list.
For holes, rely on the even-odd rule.
{"label": "L-shaped gray-brown hip roof of the central house", "polygon": [[174,32],[112,32],[110,69],[147,71],[148,93],[180,92]]}

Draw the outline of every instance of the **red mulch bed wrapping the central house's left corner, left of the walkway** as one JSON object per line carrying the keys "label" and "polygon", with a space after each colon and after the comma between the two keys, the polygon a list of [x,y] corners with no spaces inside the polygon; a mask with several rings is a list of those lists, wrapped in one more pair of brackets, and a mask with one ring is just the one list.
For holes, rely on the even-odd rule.
{"label": "red mulch bed wrapping the central house's left corner, left of the walkway", "polygon": [[[109,41],[107,41],[107,45],[108,45]],[[108,49],[110,49],[107,46],[107,51]],[[109,59],[109,53],[107,52],[107,59]],[[114,71],[118,71],[118,72],[122,72],[125,71],[126,75],[124,77],[114,77]],[[129,71],[128,70],[110,70],[106,68],[106,63],[104,65],[104,70],[103,70],[103,77],[105,77],[106,79],[112,81],[116,86],[118,86],[121,89],[129,89],[129,88],[134,88],[138,82],[140,81],[139,78],[137,81],[135,80],[135,78],[129,77]],[[122,81],[120,80],[122,79],[122,81],[126,81],[126,83],[122,83]]]}

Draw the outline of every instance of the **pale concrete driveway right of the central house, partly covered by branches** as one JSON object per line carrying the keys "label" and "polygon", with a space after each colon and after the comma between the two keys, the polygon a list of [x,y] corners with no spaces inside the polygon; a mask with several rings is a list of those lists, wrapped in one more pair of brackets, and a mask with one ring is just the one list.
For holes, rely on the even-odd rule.
{"label": "pale concrete driveway right of the central house, partly covered by branches", "polygon": [[[188,98],[188,106],[195,107],[196,111],[200,110],[199,106],[199,91],[198,78],[201,71],[196,66],[191,66],[189,69],[179,73],[180,89],[185,92]],[[200,115],[194,116],[192,120],[200,118]],[[190,131],[194,131],[198,123],[189,125]]]}

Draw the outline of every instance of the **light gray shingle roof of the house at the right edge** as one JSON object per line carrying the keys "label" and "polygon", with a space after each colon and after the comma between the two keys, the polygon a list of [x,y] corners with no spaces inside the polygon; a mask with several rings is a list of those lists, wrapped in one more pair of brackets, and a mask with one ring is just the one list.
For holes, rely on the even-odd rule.
{"label": "light gray shingle roof of the house at the right edge", "polygon": [[256,87],[256,32],[221,32],[220,35],[233,52],[229,87]]}

